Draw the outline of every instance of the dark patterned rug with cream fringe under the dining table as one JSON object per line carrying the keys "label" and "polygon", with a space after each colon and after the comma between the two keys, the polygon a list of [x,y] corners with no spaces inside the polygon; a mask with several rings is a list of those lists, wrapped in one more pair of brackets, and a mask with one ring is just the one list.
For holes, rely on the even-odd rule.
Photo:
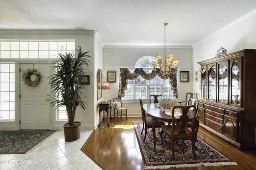
{"label": "dark patterned rug with cream fringe under the dining table", "polygon": [[145,131],[142,135],[142,121],[133,121],[134,131],[140,146],[140,152],[144,161],[145,169],[168,169],[172,167],[199,167],[199,166],[224,166],[237,165],[236,162],[230,160],[224,154],[220,153],[214,147],[203,141],[198,137],[196,142],[196,158],[193,158],[191,141],[178,141],[174,145],[175,160],[172,160],[172,152],[170,150],[170,139],[166,137],[167,143],[161,143],[161,137],[156,130],[156,151],[154,148],[154,139],[152,128],[148,129],[146,140],[143,142]]}

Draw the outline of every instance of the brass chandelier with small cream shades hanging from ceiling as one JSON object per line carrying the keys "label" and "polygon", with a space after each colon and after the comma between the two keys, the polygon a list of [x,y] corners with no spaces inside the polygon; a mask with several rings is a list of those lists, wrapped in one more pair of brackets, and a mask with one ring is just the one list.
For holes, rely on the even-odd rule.
{"label": "brass chandelier with small cream shades hanging from ceiling", "polygon": [[[173,61],[173,55],[169,54],[169,58],[166,59],[166,37],[165,37],[165,26],[168,25],[168,23],[164,23],[164,63],[162,62],[161,55],[157,55],[156,62],[158,64],[158,68],[156,65],[156,62],[153,61],[152,66],[154,67],[154,72],[158,76],[163,76],[164,78],[169,78],[170,74],[176,74],[178,70],[178,63],[180,63],[179,59],[176,59]],[[174,69],[172,69],[174,66]]]}

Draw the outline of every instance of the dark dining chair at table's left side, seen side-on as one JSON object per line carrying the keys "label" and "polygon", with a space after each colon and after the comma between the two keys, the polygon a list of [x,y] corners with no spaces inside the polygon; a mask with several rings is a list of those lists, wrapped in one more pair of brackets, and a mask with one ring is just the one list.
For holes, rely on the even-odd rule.
{"label": "dark dining chair at table's left side, seen side-on", "polygon": [[[143,139],[143,142],[145,141],[146,139],[146,136],[147,136],[147,131],[148,131],[148,128],[152,128],[152,117],[146,117],[146,113],[145,113],[145,110],[143,108],[143,103],[142,103],[142,100],[140,99],[140,108],[141,108],[141,113],[142,113],[142,122],[143,122],[143,127],[142,127],[142,131],[141,131],[141,135],[142,135],[142,132],[144,130],[144,127],[145,127],[145,136],[144,136],[144,139]],[[165,125],[164,121],[158,121],[156,123],[156,128],[158,128],[158,131],[160,133],[160,127],[162,125]]]}

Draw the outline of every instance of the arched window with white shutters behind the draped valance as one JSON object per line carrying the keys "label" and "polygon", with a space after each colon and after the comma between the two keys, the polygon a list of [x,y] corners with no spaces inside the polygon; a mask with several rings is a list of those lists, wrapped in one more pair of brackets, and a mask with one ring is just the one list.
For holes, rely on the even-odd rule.
{"label": "arched window with white shutters behind the draped valance", "polygon": [[[136,61],[134,68],[143,68],[146,73],[153,70],[152,61],[156,61],[155,57],[144,56]],[[134,69],[129,69],[132,73]],[[169,79],[162,79],[156,76],[152,80],[146,80],[142,76],[138,76],[136,80],[128,80],[128,86],[125,90],[123,101],[135,102],[141,98],[144,101],[149,101],[151,94],[161,94],[164,99],[174,99],[172,87],[169,84]]]}

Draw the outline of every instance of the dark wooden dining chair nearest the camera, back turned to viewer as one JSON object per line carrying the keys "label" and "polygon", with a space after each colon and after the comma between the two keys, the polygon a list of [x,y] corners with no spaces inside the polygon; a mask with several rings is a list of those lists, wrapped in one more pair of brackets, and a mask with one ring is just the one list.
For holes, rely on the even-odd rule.
{"label": "dark wooden dining chair nearest the camera, back turned to viewer", "polygon": [[[191,123],[191,129],[186,127],[186,123],[190,121],[188,119],[188,111],[189,109],[193,108],[194,115],[192,118]],[[172,150],[172,158],[175,160],[175,154],[174,154],[174,141],[177,140],[191,140],[192,143],[192,152],[194,155],[194,158],[196,159],[196,132],[195,132],[195,124],[196,124],[196,106],[194,105],[188,105],[188,106],[181,106],[177,105],[172,108],[172,115],[174,115],[174,112],[176,109],[180,110],[180,113],[182,115],[180,116],[180,125],[175,124],[175,117],[172,116],[172,125],[163,125],[162,131],[160,133],[162,143],[163,143],[163,134],[167,135],[171,140],[171,150]]]}

